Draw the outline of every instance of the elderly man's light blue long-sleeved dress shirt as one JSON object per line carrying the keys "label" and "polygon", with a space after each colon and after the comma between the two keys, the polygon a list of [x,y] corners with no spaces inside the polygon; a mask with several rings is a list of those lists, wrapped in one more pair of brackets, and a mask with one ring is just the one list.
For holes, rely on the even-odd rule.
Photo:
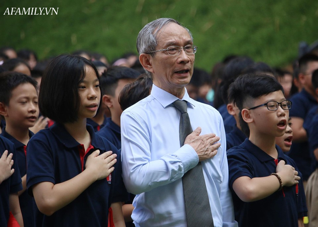
{"label": "elderly man's light blue long-sleeved dress shirt", "polygon": [[[182,176],[199,158],[188,144],[180,147],[178,98],[153,84],[151,95],[121,115],[123,179],[136,194],[132,218],[136,227],[186,227]],[[215,227],[237,227],[228,188],[226,136],[220,113],[185,92],[192,129],[215,133],[217,155],[202,162]],[[195,204],[193,205],[195,206]]]}

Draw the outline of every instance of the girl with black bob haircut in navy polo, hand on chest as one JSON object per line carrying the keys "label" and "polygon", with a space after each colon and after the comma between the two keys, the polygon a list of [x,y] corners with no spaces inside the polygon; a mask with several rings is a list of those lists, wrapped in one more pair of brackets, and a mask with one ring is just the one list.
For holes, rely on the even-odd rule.
{"label": "girl with black bob haircut in navy polo, hand on chest", "polygon": [[49,63],[39,108],[55,124],[34,135],[26,151],[27,190],[44,214],[36,215],[37,226],[125,225],[118,150],[86,124],[100,103],[98,71],[89,60],[61,55]]}

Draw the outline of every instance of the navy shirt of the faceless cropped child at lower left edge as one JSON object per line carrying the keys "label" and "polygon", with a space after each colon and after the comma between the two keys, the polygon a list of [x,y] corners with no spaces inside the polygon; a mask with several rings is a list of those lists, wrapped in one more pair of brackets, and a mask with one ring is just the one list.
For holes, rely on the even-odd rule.
{"label": "navy shirt of the faceless cropped child at lower left edge", "polygon": [[3,152],[8,150],[8,154],[13,153],[14,173],[0,184],[0,226],[6,227],[9,220],[9,194],[17,193],[22,190],[21,176],[16,155],[16,148],[8,139],[0,136],[0,157]]}

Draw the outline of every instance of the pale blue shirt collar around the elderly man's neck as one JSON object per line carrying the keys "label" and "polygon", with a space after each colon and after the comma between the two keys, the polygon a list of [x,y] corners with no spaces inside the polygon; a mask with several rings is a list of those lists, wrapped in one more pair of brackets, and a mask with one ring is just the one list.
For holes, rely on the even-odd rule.
{"label": "pale blue shirt collar around the elderly man's neck", "polygon": [[[184,89],[185,93],[182,97],[182,100],[186,101],[187,103],[190,103],[192,106],[195,106],[194,100],[189,97],[185,87]],[[179,99],[178,97],[170,94],[169,92],[159,88],[155,84],[152,85],[151,95],[163,106],[163,108],[167,107],[168,105]]]}

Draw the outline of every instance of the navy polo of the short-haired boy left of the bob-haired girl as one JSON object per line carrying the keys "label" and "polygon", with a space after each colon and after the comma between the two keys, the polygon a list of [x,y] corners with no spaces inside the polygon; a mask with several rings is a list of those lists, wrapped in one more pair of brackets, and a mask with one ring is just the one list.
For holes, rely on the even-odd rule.
{"label": "navy polo of the short-haired boy left of the bob-haired girl", "polygon": [[[33,135],[34,133],[29,130],[29,137],[31,138]],[[1,136],[9,139],[15,145],[20,176],[23,177],[26,174],[26,145],[15,139],[9,133],[7,133],[5,129],[2,131]],[[23,216],[24,227],[34,227],[34,199],[30,195],[28,195],[27,191],[25,190],[19,196],[19,203]]]}

